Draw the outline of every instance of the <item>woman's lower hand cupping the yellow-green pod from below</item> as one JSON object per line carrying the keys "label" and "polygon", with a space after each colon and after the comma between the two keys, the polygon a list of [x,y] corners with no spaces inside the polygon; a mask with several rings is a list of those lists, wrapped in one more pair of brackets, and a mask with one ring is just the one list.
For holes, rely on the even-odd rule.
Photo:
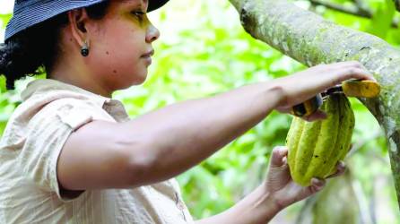
{"label": "woman's lower hand cupping the yellow-green pod from below", "polygon": [[[326,184],[325,180],[317,178],[311,179],[311,185],[307,187],[294,183],[287,163],[287,154],[288,149],[286,147],[274,148],[265,183],[266,191],[274,198],[274,202],[277,203],[280,210],[317,193]],[[330,177],[340,176],[344,173],[345,166],[342,161],[336,167],[336,173]]]}

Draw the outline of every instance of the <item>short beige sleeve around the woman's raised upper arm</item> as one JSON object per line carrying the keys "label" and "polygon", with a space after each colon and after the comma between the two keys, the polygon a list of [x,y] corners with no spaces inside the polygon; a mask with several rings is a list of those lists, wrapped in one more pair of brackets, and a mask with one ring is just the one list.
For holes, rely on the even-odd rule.
{"label": "short beige sleeve around the woman's raised upper arm", "polygon": [[40,189],[55,192],[62,201],[71,201],[61,193],[57,181],[57,160],[74,131],[93,119],[109,120],[100,107],[79,99],[57,99],[34,114],[27,124],[27,138],[20,154],[22,172]]}

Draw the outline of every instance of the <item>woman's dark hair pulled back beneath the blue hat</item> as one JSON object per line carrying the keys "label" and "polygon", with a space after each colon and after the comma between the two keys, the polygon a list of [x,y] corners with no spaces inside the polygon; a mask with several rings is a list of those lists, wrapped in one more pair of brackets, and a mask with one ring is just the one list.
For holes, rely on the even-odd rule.
{"label": "woman's dark hair pulled back beneath the blue hat", "polygon": [[[100,20],[108,7],[109,1],[104,1],[86,7],[86,12],[91,19]],[[59,51],[60,30],[66,24],[67,13],[62,13],[0,44],[0,74],[6,78],[7,90],[14,89],[16,80],[52,70]]]}

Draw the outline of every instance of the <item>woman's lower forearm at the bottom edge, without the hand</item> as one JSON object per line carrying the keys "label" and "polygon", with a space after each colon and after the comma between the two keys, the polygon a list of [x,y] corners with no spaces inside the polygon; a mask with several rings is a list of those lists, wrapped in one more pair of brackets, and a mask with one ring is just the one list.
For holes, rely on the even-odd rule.
{"label": "woman's lower forearm at the bottom edge, without the hand", "polygon": [[197,220],[196,224],[265,224],[281,211],[271,194],[265,194],[263,185],[252,194],[218,215]]}

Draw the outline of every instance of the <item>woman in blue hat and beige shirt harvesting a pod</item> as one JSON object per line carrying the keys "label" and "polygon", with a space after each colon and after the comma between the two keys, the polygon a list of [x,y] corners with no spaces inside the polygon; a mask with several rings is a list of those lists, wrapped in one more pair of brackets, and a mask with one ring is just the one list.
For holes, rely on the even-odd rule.
{"label": "woman in blue hat and beige shirt harvesting a pod", "polygon": [[[373,80],[357,62],[318,65],[129,119],[111,94],[145,81],[160,36],[146,13],[167,1],[16,1],[0,73],[8,89],[38,68],[48,79],[30,82],[4,131],[2,223],[191,223],[173,177],[274,109],[287,112],[347,79]],[[265,223],[323,187],[317,178],[295,185],[286,155],[275,148],[265,183],[197,222]]]}

